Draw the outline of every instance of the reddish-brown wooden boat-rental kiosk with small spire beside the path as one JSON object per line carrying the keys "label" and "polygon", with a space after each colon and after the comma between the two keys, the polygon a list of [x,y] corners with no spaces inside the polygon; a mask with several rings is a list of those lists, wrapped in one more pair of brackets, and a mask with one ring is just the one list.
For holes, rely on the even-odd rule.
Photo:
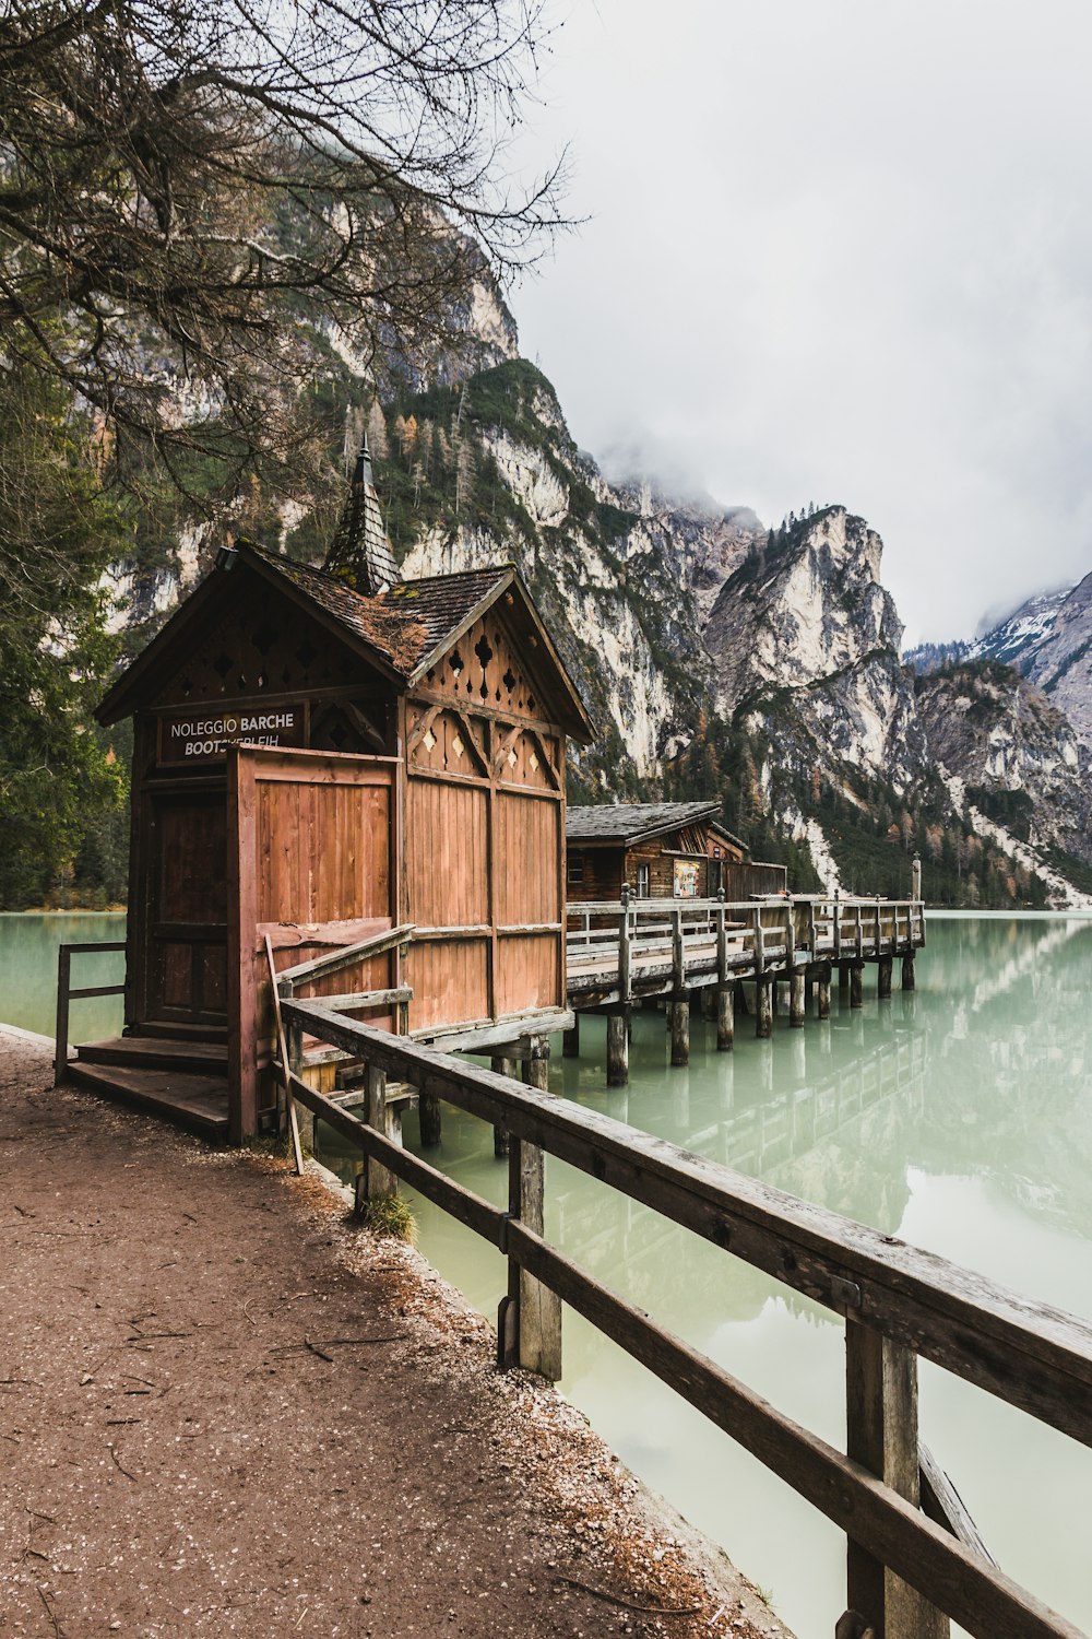
{"label": "reddish-brown wooden boat-rental kiosk with small spire beside the path", "polygon": [[565,744],[591,723],[511,564],[396,574],[224,549],[98,711],[134,720],[126,1026],[98,1047],[177,1082],[223,1044],[236,1141],[275,1101],[265,934],[285,969],[390,933],[336,988],[409,987],[360,1016],[419,1039],[568,1019]]}

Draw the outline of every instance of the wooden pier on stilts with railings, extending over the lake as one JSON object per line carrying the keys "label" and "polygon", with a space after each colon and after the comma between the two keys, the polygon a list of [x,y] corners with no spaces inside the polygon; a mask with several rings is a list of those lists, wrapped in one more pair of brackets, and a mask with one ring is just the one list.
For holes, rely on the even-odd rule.
{"label": "wooden pier on stilts with railings, extending over the lake", "polygon": [[[779,1003],[801,1029],[809,1008],[830,1016],[830,985],[864,1001],[864,969],[876,965],[878,995],[889,997],[896,959],[902,988],[914,990],[915,954],[925,946],[920,898],[801,897],[751,900],[620,900],[566,906],[568,1003],[576,1015],[607,1015],[607,1082],[629,1078],[629,1013],[666,1001],[671,1064],[689,1060],[693,998],[717,1021],[717,1047],[732,1049],[735,1013],[753,1013],[769,1036]],[[743,987],[748,987],[745,990]],[[779,995],[784,990],[784,998]],[[750,998],[748,998],[750,992]],[[580,1051],[580,1023],[566,1052]]]}

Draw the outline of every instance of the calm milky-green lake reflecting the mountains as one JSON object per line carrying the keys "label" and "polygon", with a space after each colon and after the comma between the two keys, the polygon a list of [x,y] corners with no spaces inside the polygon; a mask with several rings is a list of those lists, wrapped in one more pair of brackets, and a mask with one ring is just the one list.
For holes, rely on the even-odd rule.
{"label": "calm milky-green lake reflecting the mountains", "polygon": [[[49,1033],[57,939],[118,938],[121,924],[0,918],[0,1016]],[[843,1006],[835,988],[828,1023],[781,1023],[773,1041],[755,1041],[751,1021],[738,1019],[733,1054],[717,1054],[712,1028],[694,1019],[684,1070],[668,1065],[663,1018],[637,1015],[630,1087],[612,1092],[604,1024],[583,1019],[581,1057],[558,1057],[550,1085],[1092,1316],[1092,921],[936,913],[917,978],[917,992],[878,1003],[869,970],[863,1011]],[[77,1019],[75,1039],[80,1028]],[[406,1139],[416,1147],[413,1116]],[[347,1165],[336,1142],[323,1159]],[[440,1164],[503,1201],[506,1164],[493,1157],[491,1133],[447,1105]],[[494,1316],[499,1255],[406,1193],[426,1257]],[[553,1159],[547,1193],[547,1233],[591,1274],[843,1444],[835,1316]],[[845,1544],[832,1526],[568,1310],[560,1387],[643,1480],[768,1590],[801,1639],[830,1639],[845,1608]],[[928,1364],[922,1434],[1002,1567],[1092,1629],[1092,1452]]]}

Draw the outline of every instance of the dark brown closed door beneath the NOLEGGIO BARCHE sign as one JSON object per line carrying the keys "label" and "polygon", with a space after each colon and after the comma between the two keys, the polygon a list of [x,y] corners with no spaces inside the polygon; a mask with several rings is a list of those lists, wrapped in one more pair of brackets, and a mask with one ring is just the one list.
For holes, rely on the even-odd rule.
{"label": "dark brown closed door beneath the NOLEGGIO BARCHE sign", "polygon": [[224,790],[183,782],[149,792],[144,1003],[156,1023],[228,1019]]}

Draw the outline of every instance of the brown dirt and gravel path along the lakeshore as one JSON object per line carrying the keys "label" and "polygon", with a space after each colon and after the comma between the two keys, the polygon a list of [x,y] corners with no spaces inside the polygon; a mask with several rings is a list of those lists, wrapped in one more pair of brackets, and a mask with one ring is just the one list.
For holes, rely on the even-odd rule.
{"label": "brown dirt and gravel path along the lakeshore", "polygon": [[0,1029],[0,1634],[781,1636],[429,1265]]}

